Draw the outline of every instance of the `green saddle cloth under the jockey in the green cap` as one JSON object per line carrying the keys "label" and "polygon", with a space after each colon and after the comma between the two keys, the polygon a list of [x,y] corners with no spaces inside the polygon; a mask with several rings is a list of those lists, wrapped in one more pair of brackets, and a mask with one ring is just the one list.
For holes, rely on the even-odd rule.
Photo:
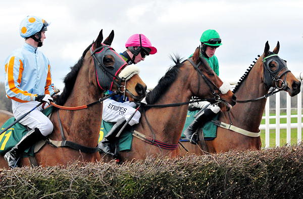
{"label": "green saddle cloth under the jockey in the green cap", "polygon": [[[187,127],[192,123],[192,121],[195,119],[193,116],[198,112],[199,110],[195,110],[195,111],[187,111],[187,116],[186,116],[186,121],[185,121],[185,125],[183,127],[182,130],[182,135],[181,135],[181,140],[186,139],[183,132],[187,129]],[[216,114],[211,120],[218,120],[219,114]],[[214,123],[211,122],[211,120],[209,122],[207,122],[203,129],[203,135],[204,138],[215,138],[217,137],[217,126],[214,125]]]}

